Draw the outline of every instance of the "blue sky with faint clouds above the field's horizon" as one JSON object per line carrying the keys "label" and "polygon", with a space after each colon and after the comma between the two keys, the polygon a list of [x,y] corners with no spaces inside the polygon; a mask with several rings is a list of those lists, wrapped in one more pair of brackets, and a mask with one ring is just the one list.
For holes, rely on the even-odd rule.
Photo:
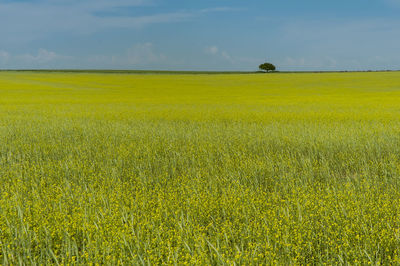
{"label": "blue sky with faint clouds above the field's horizon", "polygon": [[0,68],[400,69],[400,0],[0,0]]}

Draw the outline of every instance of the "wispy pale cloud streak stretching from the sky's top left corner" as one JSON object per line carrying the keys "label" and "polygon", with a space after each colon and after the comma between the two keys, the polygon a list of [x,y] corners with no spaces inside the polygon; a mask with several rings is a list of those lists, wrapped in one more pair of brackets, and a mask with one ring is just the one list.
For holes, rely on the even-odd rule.
{"label": "wispy pale cloud streak stretching from the sky's top left corner", "polygon": [[149,5],[144,0],[42,0],[35,2],[0,1],[1,41],[20,43],[51,36],[51,34],[87,34],[112,28],[141,28],[149,24],[187,20],[190,12],[168,12],[138,16],[100,16],[118,8]]}

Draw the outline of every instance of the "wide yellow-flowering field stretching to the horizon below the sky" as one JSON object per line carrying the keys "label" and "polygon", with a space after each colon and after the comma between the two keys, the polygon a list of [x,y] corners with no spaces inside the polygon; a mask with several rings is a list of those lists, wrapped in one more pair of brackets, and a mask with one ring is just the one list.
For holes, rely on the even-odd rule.
{"label": "wide yellow-flowering field stretching to the horizon below the sky", "polygon": [[400,264],[400,72],[0,72],[0,263]]}

